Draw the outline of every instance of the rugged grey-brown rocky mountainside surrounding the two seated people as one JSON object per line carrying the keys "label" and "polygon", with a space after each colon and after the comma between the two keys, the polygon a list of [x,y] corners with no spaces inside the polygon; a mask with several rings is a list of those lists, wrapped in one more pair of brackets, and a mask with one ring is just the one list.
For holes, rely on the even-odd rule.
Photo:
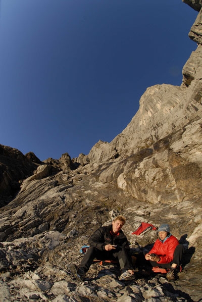
{"label": "rugged grey-brown rocky mountainside surrounding the two seated people", "polygon": [[[88,155],[41,162],[33,153],[0,145],[0,292],[2,301],[199,301],[202,198],[202,10],[189,37],[197,43],[182,70],[181,86],[155,85],[137,114],[110,143]],[[143,255],[157,238],[141,222],[169,223],[186,252],[175,282],[148,274],[120,282],[116,266],[94,264],[84,282],[79,264],[90,234],[117,215],[131,253]]]}

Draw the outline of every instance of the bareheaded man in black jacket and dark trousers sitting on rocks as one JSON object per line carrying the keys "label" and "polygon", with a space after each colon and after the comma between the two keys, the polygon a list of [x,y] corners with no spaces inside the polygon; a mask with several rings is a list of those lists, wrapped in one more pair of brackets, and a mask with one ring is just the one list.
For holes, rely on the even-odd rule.
{"label": "bareheaded man in black jacket and dark trousers sitting on rocks", "polygon": [[129,242],[121,230],[125,221],[125,217],[120,215],[113,220],[111,225],[97,229],[89,238],[90,247],[81,264],[78,267],[71,264],[70,270],[76,273],[81,280],[84,280],[94,259],[118,260],[121,268],[120,280],[134,279]]}

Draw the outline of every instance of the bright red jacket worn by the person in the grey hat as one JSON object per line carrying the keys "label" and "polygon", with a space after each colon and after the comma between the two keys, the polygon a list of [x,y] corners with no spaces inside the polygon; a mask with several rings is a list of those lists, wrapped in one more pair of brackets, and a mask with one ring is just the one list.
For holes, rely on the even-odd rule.
{"label": "bright red jacket worn by the person in the grey hat", "polygon": [[170,263],[173,260],[173,254],[176,246],[179,244],[176,237],[171,235],[166,241],[162,242],[160,239],[155,241],[153,248],[149,251],[149,254],[157,254],[160,257],[159,264]]}

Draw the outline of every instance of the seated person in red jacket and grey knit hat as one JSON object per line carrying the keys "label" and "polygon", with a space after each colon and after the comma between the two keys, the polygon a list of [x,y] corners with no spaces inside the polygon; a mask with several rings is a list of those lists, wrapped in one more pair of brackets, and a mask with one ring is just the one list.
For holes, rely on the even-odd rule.
{"label": "seated person in red jacket and grey knit hat", "polygon": [[170,233],[168,224],[162,224],[158,228],[159,238],[153,248],[145,255],[153,267],[161,267],[168,270],[166,275],[169,281],[176,279],[177,267],[181,263],[184,251],[183,245],[179,244],[176,237]]}

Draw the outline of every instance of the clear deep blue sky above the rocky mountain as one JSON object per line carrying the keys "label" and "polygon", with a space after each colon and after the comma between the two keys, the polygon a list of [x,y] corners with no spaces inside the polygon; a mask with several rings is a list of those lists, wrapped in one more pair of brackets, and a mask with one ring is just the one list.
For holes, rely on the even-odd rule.
{"label": "clear deep blue sky above the rocky mountain", "polygon": [[40,160],[110,142],[197,47],[181,0],[0,3],[0,143]]}

